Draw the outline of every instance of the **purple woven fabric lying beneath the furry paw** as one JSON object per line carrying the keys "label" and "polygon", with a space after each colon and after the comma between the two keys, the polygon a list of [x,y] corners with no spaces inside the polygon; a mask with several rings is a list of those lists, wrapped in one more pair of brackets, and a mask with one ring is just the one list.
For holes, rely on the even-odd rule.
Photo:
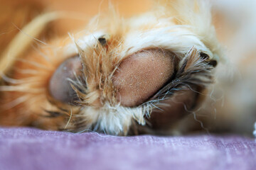
{"label": "purple woven fabric lying beneath the furry paw", "polygon": [[256,169],[256,142],[230,135],[114,137],[0,128],[0,169]]}

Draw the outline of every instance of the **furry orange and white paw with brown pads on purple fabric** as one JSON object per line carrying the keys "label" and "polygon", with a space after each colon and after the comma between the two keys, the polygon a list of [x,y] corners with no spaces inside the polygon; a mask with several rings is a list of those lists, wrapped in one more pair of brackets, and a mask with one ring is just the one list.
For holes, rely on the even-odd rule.
{"label": "furry orange and white paw with brown pads on purple fabric", "polygon": [[178,135],[252,120],[236,123],[253,113],[255,95],[248,102],[250,87],[240,90],[245,81],[218,42],[209,1],[156,1],[126,19],[110,8],[82,31],[14,58],[1,68],[1,125]]}

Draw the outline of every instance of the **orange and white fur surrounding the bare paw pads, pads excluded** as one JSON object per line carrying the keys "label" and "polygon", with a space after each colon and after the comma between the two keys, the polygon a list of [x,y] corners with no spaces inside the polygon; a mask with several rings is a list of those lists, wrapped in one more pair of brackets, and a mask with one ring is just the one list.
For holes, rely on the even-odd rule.
{"label": "orange and white fur surrounding the bare paw pads, pads excluded", "polygon": [[[50,21],[65,16],[55,12],[34,18],[1,53],[1,125],[172,135],[189,132],[198,122],[201,128],[212,125],[216,109],[218,115],[227,112],[218,106],[218,90],[228,86],[219,71],[226,69],[228,59],[216,37],[209,1],[155,1],[153,9],[132,18],[122,18],[110,6],[82,31],[39,41],[39,47],[24,52],[31,36],[37,38]],[[113,84],[115,72],[130,56],[154,49],[174,54],[174,79],[149,101],[122,106]],[[53,98],[48,84],[60,64],[76,55],[82,77],[75,76],[70,86],[79,100],[63,103]],[[225,104],[233,109],[229,101]],[[198,120],[201,115],[210,115],[202,118],[204,125]]]}

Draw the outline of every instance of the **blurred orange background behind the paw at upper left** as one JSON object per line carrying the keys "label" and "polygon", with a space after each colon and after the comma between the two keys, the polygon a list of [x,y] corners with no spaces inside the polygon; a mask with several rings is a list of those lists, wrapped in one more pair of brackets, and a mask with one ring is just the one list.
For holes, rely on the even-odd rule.
{"label": "blurred orange background behind the paw at upper left", "polygon": [[[0,0],[0,52],[32,18],[48,11],[71,12],[70,18],[55,21],[48,28],[49,36],[66,35],[69,31],[85,26],[99,12],[106,11],[107,0]],[[150,0],[112,0],[120,15],[129,17],[143,13],[151,7]],[[45,34],[44,34],[45,35]]]}

